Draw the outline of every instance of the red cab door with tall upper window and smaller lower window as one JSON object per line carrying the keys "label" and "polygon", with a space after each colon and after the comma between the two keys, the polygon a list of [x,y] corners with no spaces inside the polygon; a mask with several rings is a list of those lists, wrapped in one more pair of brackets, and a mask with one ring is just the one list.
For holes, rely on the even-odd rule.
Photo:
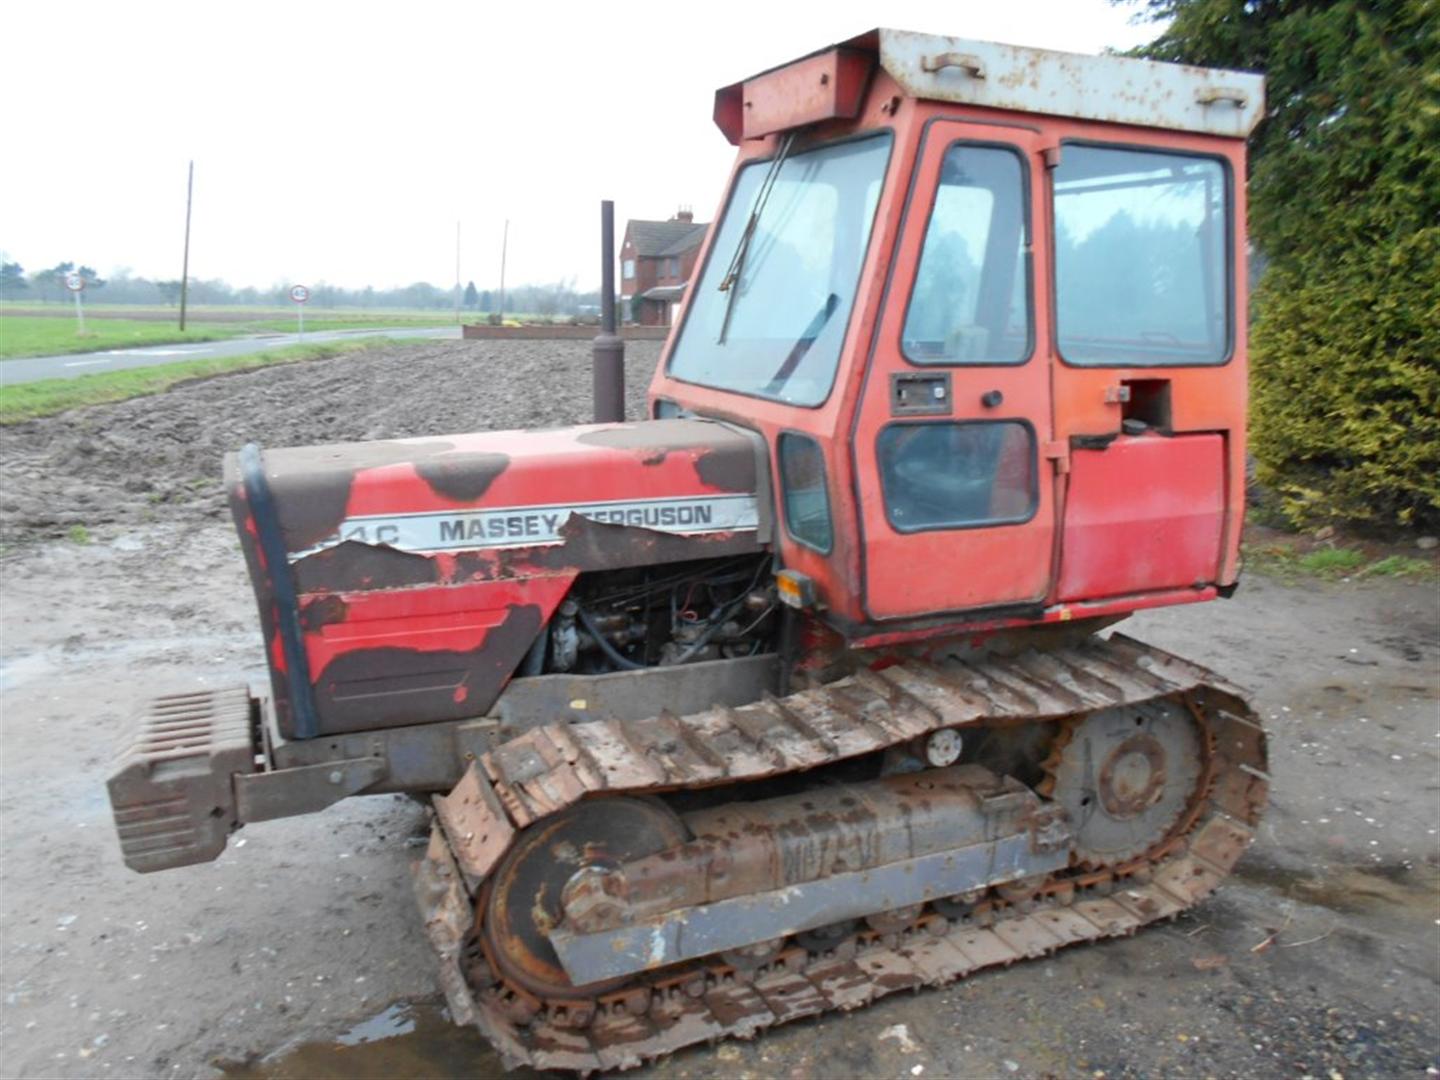
{"label": "red cab door with tall upper window and smaller lower window", "polygon": [[1044,602],[1040,135],[932,120],[852,432],[873,621]]}

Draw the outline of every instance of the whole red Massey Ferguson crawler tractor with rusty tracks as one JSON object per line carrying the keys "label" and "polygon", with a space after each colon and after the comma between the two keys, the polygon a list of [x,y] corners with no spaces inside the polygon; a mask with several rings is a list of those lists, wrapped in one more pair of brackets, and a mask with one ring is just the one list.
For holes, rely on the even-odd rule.
{"label": "whole red Massey Ferguson crawler tractor with rusty tracks", "polygon": [[1261,95],[897,30],[719,91],[649,419],[226,461],[269,680],[150,706],[125,863],[426,799],[451,1015],[580,1073],[1197,904],[1264,736],[1107,631],[1237,583]]}

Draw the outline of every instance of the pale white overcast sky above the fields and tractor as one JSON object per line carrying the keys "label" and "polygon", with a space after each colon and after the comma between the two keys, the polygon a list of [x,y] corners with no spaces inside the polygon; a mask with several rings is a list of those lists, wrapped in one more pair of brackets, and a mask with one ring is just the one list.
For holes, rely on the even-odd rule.
{"label": "pale white overcast sky above the fields and tractor", "polygon": [[1071,52],[1155,36],[1106,0],[63,3],[0,14],[0,252],[235,285],[599,282],[600,199],[708,220],[717,86],[877,22]]}

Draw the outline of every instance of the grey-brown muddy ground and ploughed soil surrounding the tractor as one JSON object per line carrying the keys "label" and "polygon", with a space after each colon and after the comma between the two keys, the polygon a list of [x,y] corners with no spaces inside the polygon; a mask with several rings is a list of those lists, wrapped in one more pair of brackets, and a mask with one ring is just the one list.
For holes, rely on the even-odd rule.
{"label": "grey-brown muddy ground and ploughed soil surrounding the tractor", "polygon": [[[629,346],[636,402],[655,351]],[[422,344],[0,431],[0,1074],[500,1074],[433,991],[406,874],[419,808],[351,799],[141,877],[104,776],[144,697],[262,664],[220,452],[582,420],[586,360]],[[1433,582],[1251,577],[1132,619],[1253,688],[1270,723],[1273,805],[1230,886],[1130,940],[644,1074],[1434,1074],[1437,606]]]}

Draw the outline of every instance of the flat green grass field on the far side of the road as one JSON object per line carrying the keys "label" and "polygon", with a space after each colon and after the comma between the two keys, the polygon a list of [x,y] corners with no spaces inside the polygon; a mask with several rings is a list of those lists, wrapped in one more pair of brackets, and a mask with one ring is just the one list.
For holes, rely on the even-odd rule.
{"label": "flat green grass field on the far side of the road", "polygon": [[[76,333],[73,311],[56,308],[55,314],[19,314],[35,308],[19,308],[12,314],[9,305],[0,307],[0,360],[17,360],[24,356],[60,356],[66,353],[95,353],[105,348],[140,348],[144,346],[168,346],[186,341],[219,341],[243,334],[295,333],[295,312],[288,317],[266,308],[220,308],[209,312],[196,311],[180,333],[174,320],[156,318],[163,310],[130,310],[137,318],[114,318],[86,312],[85,333]],[[223,318],[220,317],[223,315]],[[478,318],[478,317],[475,317]],[[409,312],[354,312],[354,311],[307,311],[305,330],[373,330],[377,327],[446,327],[454,325],[452,314],[426,315]]]}

